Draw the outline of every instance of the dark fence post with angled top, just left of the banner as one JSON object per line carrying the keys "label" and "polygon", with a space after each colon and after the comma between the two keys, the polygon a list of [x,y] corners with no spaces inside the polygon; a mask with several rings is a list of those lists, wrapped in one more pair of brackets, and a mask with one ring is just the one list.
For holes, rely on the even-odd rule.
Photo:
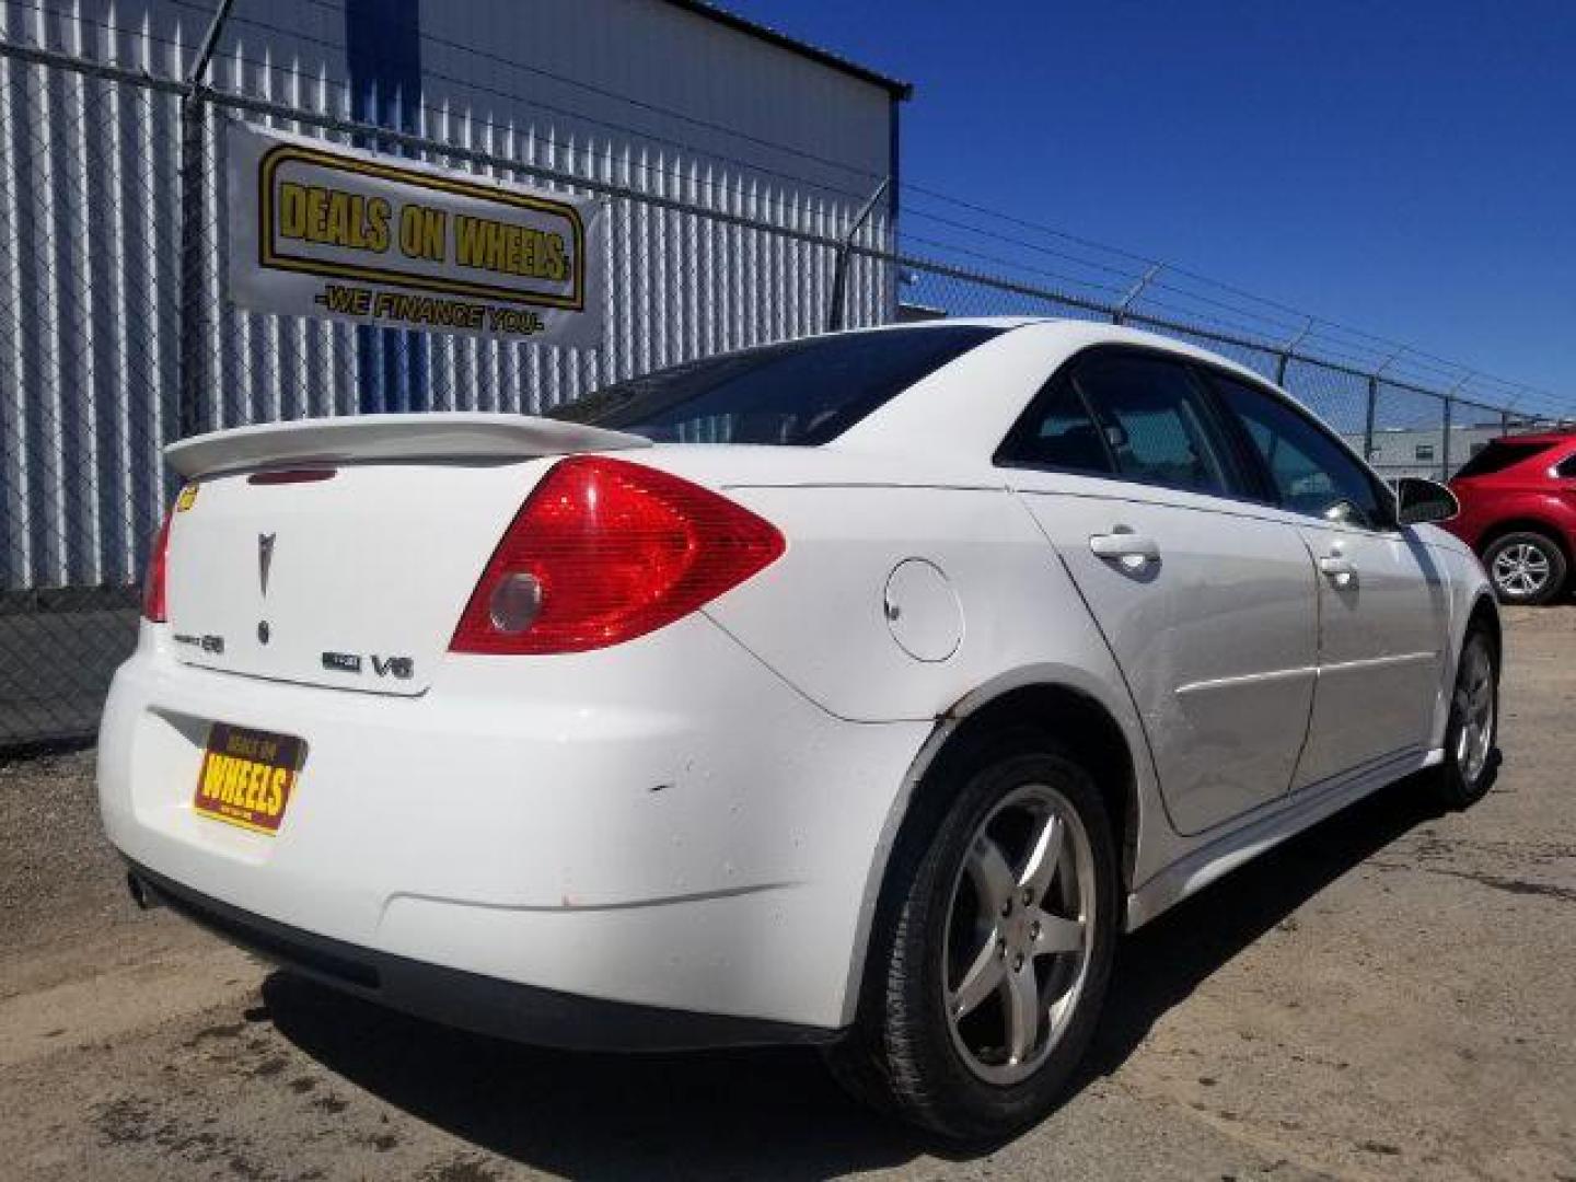
{"label": "dark fence post with angled top, just left of the banner", "polygon": [[[208,32],[197,47],[197,57],[186,74],[186,90],[181,93],[181,299],[180,342],[181,381],[177,396],[175,422],[167,424],[165,438],[180,438],[202,430],[202,402],[208,386],[208,358],[203,345],[203,230],[206,206],[203,183],[206,180],[206,113],[202,98],[202,80],[213,61],[224,20],[230,16],[235,0],[219,0],[208,22]],[[169,427],[173,427],[170,430]]]}

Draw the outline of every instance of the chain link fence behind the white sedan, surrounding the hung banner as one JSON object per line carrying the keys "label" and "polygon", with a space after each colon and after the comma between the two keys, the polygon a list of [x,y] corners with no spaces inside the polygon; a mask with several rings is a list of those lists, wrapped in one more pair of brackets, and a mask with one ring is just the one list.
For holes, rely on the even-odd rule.
{"label": "chain link fence behind the white sedan, surrounding the hung banner", "polygon": [[[418,110],[414,129],[391,131],[351,118],[326,84],[279,90],[235,65],[192,85],[180,44],[65,52],[8,19],[0,11],[0,749],[91,736],[136,643],[148,539],[175,492],[161,449],[199,430],[369,408],[536,413],[831,320],[933,315],[1114,320],[1196,342],[1280,381],[1387,474],[1444,476],[1480,437],[1529,422],[1305,342],[1177,318],[1141,292],[1092,298],[898,249],[890,224],[864,217],[867,202],[829,205],[452,112]],[[233,309],[219,232],[227,120],[604,197],[602,347]]]}

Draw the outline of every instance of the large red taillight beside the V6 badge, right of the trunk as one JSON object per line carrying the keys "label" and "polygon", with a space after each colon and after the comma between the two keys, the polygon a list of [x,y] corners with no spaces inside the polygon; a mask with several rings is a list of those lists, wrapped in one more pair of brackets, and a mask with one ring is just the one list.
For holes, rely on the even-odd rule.
{"label": "large red taillight beside the V6 badge, right of the trunk", "polygon": [[559,460],[520,506],[452,652],[583,652],[687,616],[783,552],[769,523],[626,460]]}

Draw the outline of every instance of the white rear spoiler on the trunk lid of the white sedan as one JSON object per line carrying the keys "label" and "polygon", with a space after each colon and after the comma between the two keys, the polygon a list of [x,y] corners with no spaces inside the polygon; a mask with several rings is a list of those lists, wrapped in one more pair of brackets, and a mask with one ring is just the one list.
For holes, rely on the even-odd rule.
{"label": "white rear spoiler on the trunk lid of the white sedan", "polygon": [[353,414],[194,435],[164,449],[184,476],[277,465],[366,460],[528,460],[585,451],[649,448],[651,440],[531,414]]}

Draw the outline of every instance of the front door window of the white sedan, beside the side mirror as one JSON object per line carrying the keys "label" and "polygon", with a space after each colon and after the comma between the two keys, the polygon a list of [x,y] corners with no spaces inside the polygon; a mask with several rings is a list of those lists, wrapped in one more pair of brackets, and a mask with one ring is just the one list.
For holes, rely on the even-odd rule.
{"label": "front door window of the white sedan, beside the side mirror", "polygon": [[1322,427],[1247,383],[1210,380],[1264,459],[1283,507],[1371,530],[1388,523],[1373,478]]}

